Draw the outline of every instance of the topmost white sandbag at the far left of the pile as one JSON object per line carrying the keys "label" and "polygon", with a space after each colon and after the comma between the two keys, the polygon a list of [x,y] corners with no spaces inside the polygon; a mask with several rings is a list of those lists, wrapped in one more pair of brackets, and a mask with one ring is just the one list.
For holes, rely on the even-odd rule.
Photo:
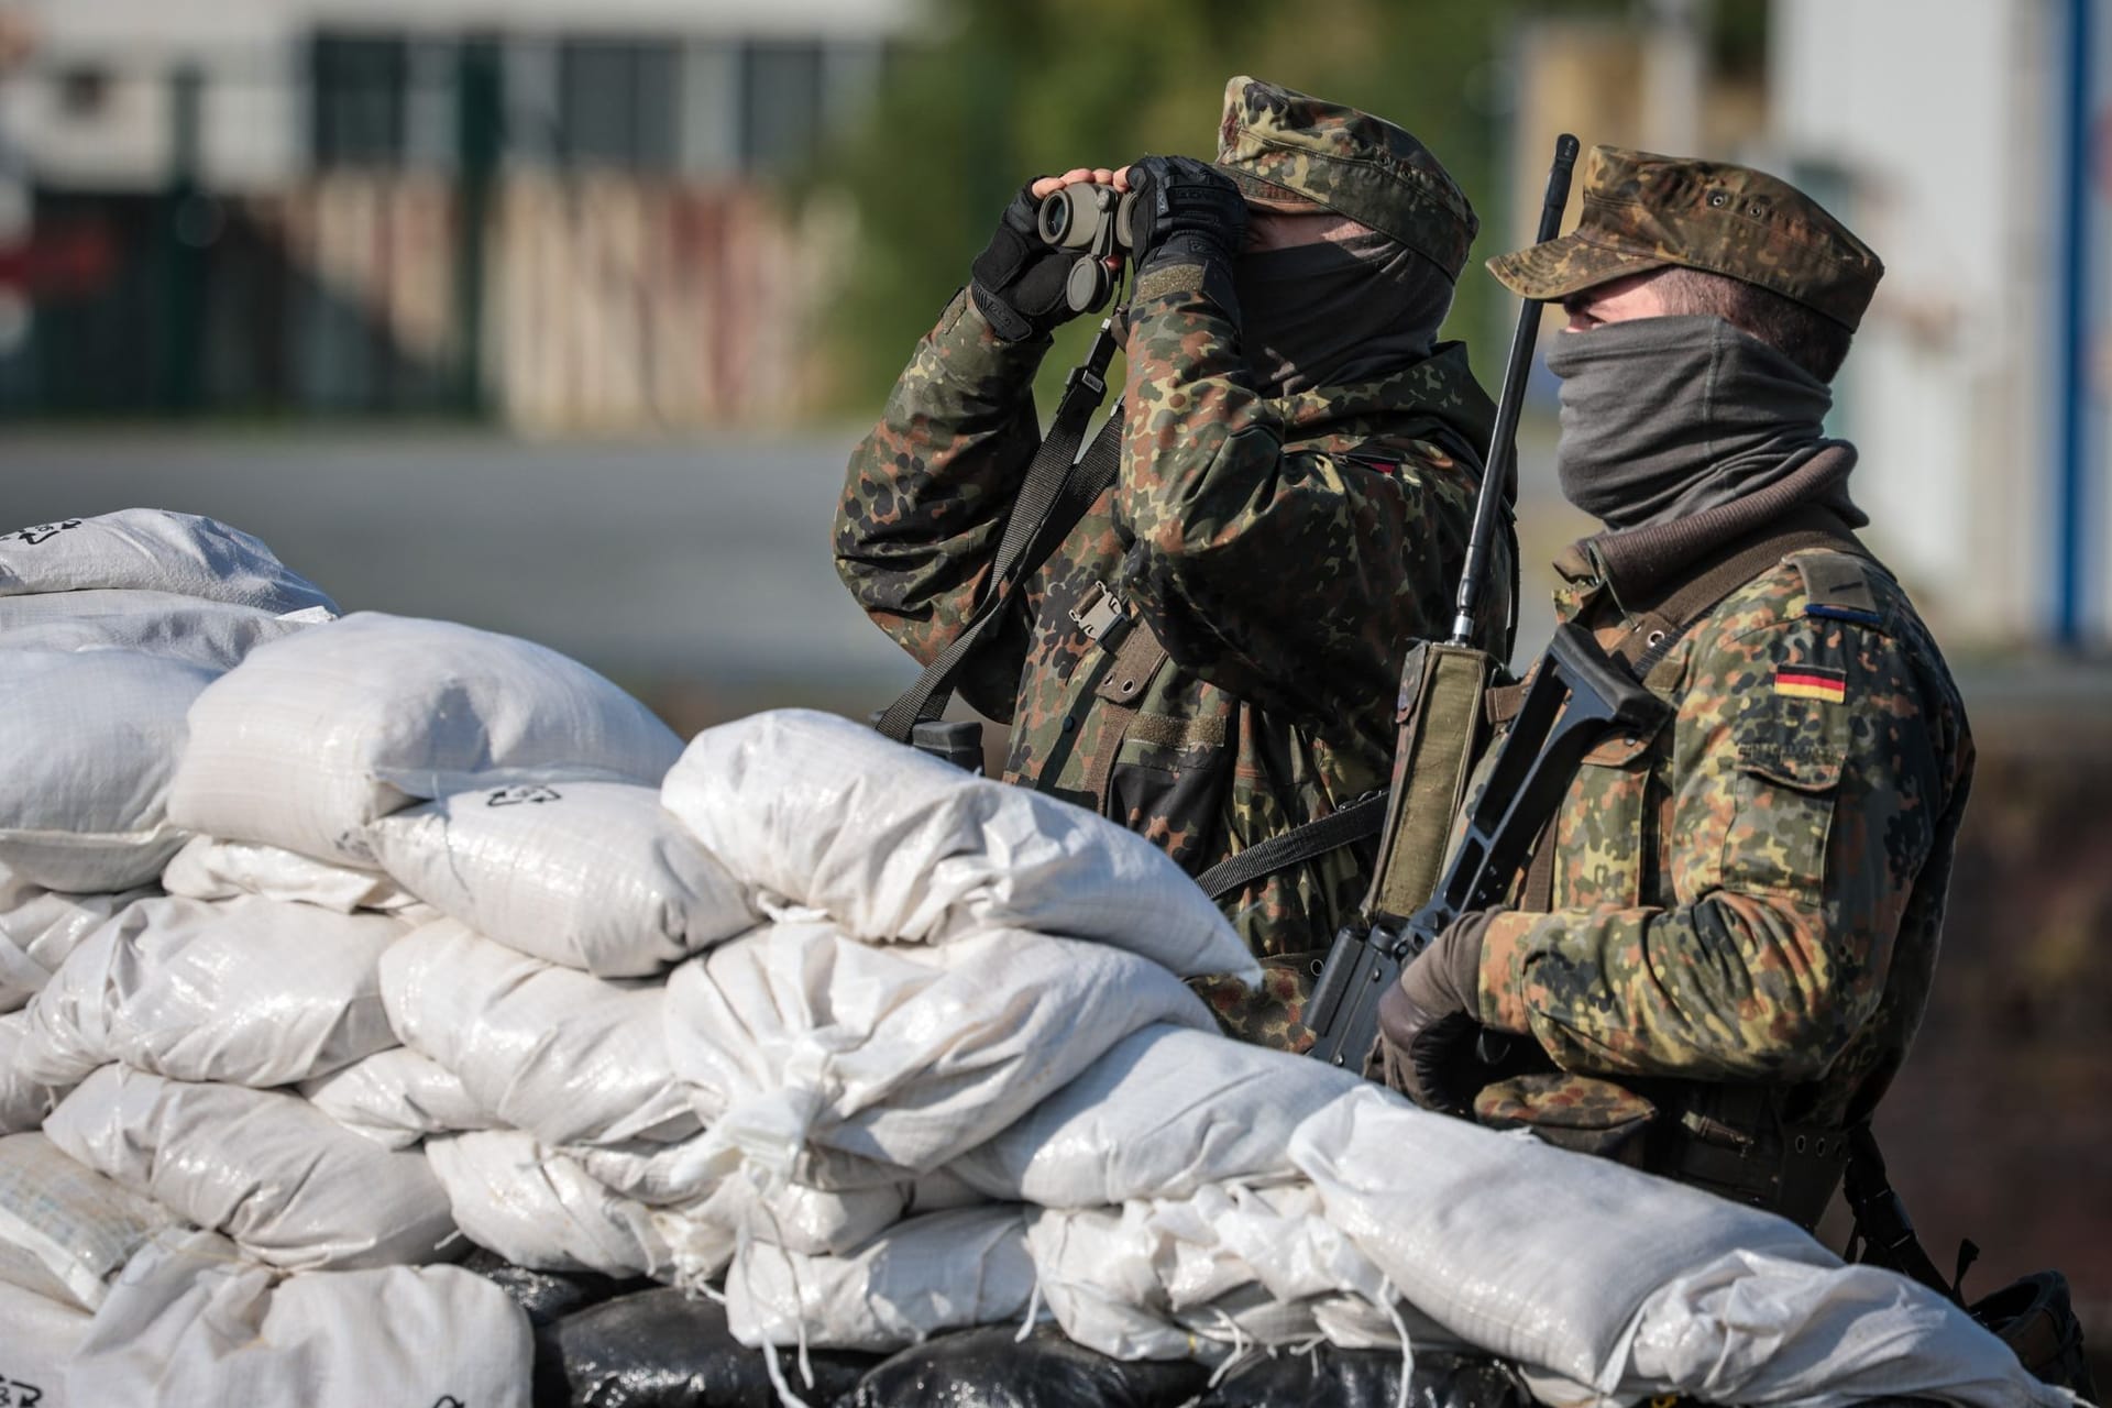
{"label": "topmost white sandbag at the far left of the pile", "polygon": [[169,591],[275,614],[338,610],[268,547],[196,513],[120,509],[0,536],[0,597],[93,589]]}

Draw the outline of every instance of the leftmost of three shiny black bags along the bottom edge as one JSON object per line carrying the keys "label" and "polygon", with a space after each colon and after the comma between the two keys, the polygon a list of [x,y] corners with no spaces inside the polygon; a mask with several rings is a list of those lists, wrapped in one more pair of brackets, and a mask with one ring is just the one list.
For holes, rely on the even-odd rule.
{"label": "leftmost of three shiny black bags along the bottom edge", "polygon": [[[815,1349],[813,1385],[798,1351],[777,1364],[807,1404],[832,1404],[881,1355]],[[727,1311],[672,1286],[566,1315],[536,1332],[534,1408],[777,1408],[769,1364],[727,1328]]]}

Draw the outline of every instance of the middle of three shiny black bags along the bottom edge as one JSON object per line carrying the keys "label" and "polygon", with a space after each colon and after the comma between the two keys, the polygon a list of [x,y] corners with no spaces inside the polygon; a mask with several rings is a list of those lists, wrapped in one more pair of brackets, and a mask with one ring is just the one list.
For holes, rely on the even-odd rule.
{"label": "middle of three shiny black bags along the bottom edge", "polygon": [[1124,1364],[1073,1345],[1054,1326],[946,1334],[879,1366],[838,1408],[1176,1408],[1210,1370],[1189,1362]]}

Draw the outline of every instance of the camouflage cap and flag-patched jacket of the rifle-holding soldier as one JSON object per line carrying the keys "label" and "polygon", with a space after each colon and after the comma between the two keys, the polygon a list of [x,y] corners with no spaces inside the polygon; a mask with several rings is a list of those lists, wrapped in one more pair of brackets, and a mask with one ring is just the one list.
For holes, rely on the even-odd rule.
{"label": "camouflage cap and flag-patched jacket of the rifle-holding soldier", "polygon": [[[1685,264],[1848,327],[1869,302],[1875,258],[1793,188],[1592,156],[1580,230],[1491,260],[1521,293]],[[1557,564],[1557,612],[1611,650],[1637,593],[1601,543]],[[1645,686],[1673,718],[1586,758],[1540,842],[1550,910],[1500,910],[1481,935],[1478,1020],[1559,1070],[1474,1110],[1681,1176],[1668,1125],[1738,1153],[1755,1108],[1812,1142],[1869,1117],[1928,996],[1973,741],[1905,591],[1846,553],[1761,570]]]}

